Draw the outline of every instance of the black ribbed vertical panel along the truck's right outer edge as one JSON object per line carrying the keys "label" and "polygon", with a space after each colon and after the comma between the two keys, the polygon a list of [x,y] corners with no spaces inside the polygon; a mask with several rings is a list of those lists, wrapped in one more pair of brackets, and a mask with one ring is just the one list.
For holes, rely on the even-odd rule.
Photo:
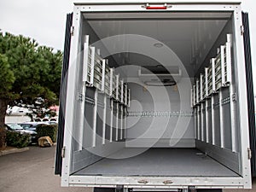
{"label": "black ribbed vertical panel along the truck's right outer edge", "polygon": [[248,118],[250,131],[250,145],[252,149],[252,174],[256,176],[256,131],[255,131],[255,113],[254,113],[254,94],[253,94],[253,69],[251,57],[251,44],[248,14],[242,13],[242,22],[244,26],[244,49],[247,73],[247,101],[248,101]]}

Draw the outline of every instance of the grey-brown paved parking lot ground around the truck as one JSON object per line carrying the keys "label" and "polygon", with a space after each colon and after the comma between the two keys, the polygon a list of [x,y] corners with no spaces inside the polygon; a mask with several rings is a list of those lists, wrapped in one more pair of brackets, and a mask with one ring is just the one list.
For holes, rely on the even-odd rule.
{"label": "grey-brown paved parking lot ground around the truck", "polygon": [[[29,151],[0,157],[0,192],[91,192],[85,188],[61,188],[61,178],[54,175],[55,147],[30,147]],[[224,192],[256,192],[224,190]]]}

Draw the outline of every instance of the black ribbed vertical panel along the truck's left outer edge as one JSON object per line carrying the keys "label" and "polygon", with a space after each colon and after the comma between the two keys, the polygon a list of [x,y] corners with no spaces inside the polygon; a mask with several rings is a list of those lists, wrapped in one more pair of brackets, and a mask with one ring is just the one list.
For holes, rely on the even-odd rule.
{"label": "black ribbed vertical panel along the truck's left outer edge", "polygon": [[56,154],[55,154],[55,174],[56,175],[61,175],[61,166],[62,166],[61,149],[63,147],[63,137],[64,137],[65,109],[66,109],[66,95],[67,95],[67,70],[69,65],[72,25],[73,25],[73,13],[67,15],[67,24],[66,24],[64,55],[63,55],[62,73],[61,73],[59,127],[58,127],[58,136],[57,136]]}

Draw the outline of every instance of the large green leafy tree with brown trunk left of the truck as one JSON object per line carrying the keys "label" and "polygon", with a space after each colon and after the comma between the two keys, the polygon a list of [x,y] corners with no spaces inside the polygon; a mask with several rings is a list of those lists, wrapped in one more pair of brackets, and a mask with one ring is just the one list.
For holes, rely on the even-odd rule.
{"label": "large green leafy tree with brown trunk left of the truck", "polygon": [[0,127],[8,105],[38,108],[42,106],[38,98],[43,99],[44,107],[58,103],[61,62],[59,50],[39,46],[21,35],[0,33]]}

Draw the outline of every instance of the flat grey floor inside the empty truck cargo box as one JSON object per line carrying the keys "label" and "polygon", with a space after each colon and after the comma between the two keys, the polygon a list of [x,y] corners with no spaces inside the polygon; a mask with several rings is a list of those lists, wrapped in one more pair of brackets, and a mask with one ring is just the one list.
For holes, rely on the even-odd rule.
{"label": "flat grey floor inside the empty truck cargo box", "polygon": [[[124,149],[125,150],[125,149]],[[126,149],[127,150],[127,149]],[[128,150],[132,150],[128,148]],[[124,151],[122,152],[122,154]],[[195,148],[150,148],[127,159],[102,159],[74,175],[236,177],[226,166]]]}

